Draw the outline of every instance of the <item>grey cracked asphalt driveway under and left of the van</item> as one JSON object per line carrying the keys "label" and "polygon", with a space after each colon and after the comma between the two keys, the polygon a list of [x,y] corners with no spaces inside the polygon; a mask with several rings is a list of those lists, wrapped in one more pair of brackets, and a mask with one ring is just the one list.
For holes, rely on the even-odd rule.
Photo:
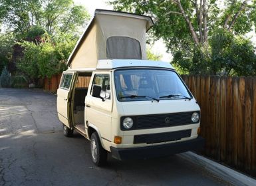
{"label": "grey cracked asphalt driveway under and left of the van", "polygon": [[87,140],[63,136],[55,95],[0,89],[0,185],[229,185],[179,155],[108,161],[95,167]]}

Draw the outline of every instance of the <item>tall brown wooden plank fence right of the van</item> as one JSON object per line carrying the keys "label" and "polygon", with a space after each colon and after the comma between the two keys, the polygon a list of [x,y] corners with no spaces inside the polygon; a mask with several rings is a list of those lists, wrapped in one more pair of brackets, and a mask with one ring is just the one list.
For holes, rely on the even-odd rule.
{"label": "tall brown wooden plank fence right of the van", "polygon": [[182,78],[201,108],[203,154],[256,177],[256,77]]}

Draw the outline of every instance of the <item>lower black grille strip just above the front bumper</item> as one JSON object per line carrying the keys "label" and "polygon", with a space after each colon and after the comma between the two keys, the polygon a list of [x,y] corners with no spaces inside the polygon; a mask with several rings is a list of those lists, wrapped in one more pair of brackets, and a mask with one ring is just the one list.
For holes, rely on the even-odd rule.
{"label": "lower black grille strip just above the front bumper", "polygon": [[192,130],[180,130],[175,132],[164,132],[158,134],[143,134],[134,136],[134,144],[136,143],[160,143],[165,141],[180,140],[191,136]]}

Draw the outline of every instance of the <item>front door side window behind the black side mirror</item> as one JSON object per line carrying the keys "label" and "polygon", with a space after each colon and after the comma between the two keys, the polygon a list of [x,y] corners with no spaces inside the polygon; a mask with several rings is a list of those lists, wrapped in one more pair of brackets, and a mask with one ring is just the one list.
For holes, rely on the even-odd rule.
{"label": "front door side window behind the black side mirror", "polygon": [[[96,84],[101,86],[100,96],[102,98],[110,100],[110,82],[109,82],[109,75],[108,74],[95,74],[92,86]],[[92,94],[92,89],[90,91]]]}

